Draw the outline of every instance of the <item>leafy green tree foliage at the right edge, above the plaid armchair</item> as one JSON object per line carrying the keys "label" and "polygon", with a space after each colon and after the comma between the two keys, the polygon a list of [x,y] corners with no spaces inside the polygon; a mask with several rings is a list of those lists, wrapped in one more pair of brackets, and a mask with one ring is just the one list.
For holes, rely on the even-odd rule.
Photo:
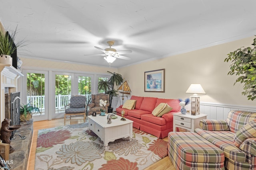
{"label": "leafy green tree foliage at the right edge, above the plaid armchair", "polygon": [[239,76],[234,82],[244,83],[242,95],[248,100],[256,98],[256,38],[254,38],[253,47],[241,47],[234,52],[230,52],[224,62],[231,61],[228,75]]}

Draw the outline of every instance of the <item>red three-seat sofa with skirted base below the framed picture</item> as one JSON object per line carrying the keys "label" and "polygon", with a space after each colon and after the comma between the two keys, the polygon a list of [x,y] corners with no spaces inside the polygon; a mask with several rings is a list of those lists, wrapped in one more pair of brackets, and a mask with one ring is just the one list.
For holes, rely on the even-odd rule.
{"label": "red three-seat sofa with skirted base below the framed picture", "polygon": [[[131,96],[131,100],[136,100],[135,109],[124,109],[121,105],[116,108],[116,113],[121,116],[121,111],[124,110],[124,117],[133,121],[133,127],[161,139],[167,137],[168,133],[173,131],[172,113],[180,112],[180,101],[178,99]],[[172,107],[172,110],[162,115],[162,117],[152,115],[152,111],[160,103],[167,103]]]}

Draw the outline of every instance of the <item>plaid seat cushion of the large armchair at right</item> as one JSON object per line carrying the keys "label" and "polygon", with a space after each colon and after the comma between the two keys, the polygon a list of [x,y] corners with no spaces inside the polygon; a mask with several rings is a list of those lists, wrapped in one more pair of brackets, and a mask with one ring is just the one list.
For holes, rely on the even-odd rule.
{"label": "plaid seat cushion of the large armchair at right", "polygon": [[199,128],[195,132],[216,147],[223,150],[225,157],[238,162],[245,162],[246,155],[234,145],[234,133],[230,131],[205,131]]}

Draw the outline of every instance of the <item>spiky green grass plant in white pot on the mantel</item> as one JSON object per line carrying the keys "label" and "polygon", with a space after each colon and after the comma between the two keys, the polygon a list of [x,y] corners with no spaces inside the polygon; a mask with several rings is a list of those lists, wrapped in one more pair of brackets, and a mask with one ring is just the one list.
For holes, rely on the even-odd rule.
{"label": "spiky green grass plant in white pot on the mantel", "polygon": [[[17,26],[18,27],[18,26]],[[10,33],[0,29],[0,63],[12,65],[11,55],[20,47],[24,46],[24,41],[15,42],[16,29]]]}

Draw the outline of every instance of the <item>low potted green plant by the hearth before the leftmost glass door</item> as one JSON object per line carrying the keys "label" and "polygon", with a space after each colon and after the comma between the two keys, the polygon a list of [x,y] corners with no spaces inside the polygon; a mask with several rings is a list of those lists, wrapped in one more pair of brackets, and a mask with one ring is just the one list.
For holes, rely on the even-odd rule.
{"label": "low potted green plant by the hearth before the leftmost glass door", "polygon": [[32,114],[40,114],[41,111],[38,107],[32,106],[30,103],[20,105],[20,121],[27,121],[32,118]]}

